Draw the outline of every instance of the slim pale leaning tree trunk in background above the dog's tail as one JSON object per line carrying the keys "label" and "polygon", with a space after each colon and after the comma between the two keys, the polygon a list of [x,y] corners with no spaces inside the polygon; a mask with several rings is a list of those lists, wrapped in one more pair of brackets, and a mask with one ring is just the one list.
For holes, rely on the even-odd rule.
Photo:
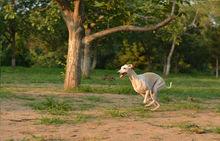
{"label": "slim pale leaning tree trunk in background above the dog's tail", "polygon": [[173,52],[175,49],[175,43],[176,43],[176,38],[174,37],[169,55],[167,56],[167,62],[166,62],[165,74],[164,74],[165,76],[168,76],[170,73],[171,59],[172,59]]}

